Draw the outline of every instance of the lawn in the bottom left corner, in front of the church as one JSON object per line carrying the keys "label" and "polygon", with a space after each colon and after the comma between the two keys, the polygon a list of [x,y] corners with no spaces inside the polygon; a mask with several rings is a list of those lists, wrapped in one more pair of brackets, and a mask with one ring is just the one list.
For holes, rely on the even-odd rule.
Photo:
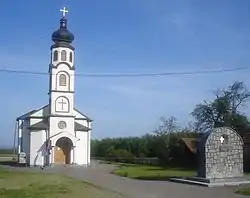
{"label": "lawn in the bottom left corner, in front of the church", "polygon": [[0,169],[1,198],[118,198],[118,193],[56,174]]}

